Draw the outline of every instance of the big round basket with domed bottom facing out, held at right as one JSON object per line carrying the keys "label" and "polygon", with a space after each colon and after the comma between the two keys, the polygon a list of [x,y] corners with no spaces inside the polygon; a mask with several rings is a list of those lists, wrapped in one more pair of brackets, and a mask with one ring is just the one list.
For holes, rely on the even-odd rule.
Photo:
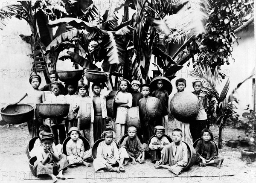
{"label": "big round basket with domed bottom facing out, held at right", "polygon": [[195,118],[198,115],[199,108],[199,100],[191,92],[177,93],[172,97],[170,102],[170,110],[173,116],[183,122]]}

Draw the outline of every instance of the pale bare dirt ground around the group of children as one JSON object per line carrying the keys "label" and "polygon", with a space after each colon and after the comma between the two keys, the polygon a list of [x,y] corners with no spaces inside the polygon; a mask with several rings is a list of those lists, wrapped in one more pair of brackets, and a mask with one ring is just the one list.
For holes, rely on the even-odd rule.
{"label": "pale bare dirt ground around the group of children", "polygon": [[[218,126],[210,127],[215,142],[218,142]],[[219,154],[224,157],[223,166],[232,167],[233,176],[220,174],[218,177],[171,177],[157,178],[152,169],[152,177],[134,177],[128,179],[66,179],[58,182],[256,182],[256,162],[247,163],[241,160],[241,147],[230,148],[226,142],[230,139],[245,137],[241,130],[225,128],[223,131],[223,148]],[[45,178],[35,180],[30,173],[26,146],[29,142],[29,133],[26,124],[0,126],[0,182],[52,182]]]}

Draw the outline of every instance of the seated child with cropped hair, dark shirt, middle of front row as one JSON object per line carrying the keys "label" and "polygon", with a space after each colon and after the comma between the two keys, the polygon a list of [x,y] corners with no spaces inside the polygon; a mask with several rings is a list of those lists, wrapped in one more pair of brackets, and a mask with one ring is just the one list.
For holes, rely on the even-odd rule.
{"label": "seated child with cropped hair, dark shirt, middle of front row", "polygon": [[125,137],[120,147],[126,149],[129,158],[132,160],[131,164],[136,164],[136,161],[140,164],[145,163],[145,151],[148,145],[142,144],[137,137],[137,128],[133,125],[128,127],[128,137]]}

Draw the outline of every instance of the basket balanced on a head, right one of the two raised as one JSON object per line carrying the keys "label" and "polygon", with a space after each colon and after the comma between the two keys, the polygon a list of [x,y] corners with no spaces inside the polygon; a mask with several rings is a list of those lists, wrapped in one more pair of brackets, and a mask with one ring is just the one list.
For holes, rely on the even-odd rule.
{"label": "basket balanced on a head, right one of the two raised", "polygon": [[99,70],[85,70],[84,76],[88,81],[93,83],[95,82],[105,83],[109,79],[109,73],[99,71]]}

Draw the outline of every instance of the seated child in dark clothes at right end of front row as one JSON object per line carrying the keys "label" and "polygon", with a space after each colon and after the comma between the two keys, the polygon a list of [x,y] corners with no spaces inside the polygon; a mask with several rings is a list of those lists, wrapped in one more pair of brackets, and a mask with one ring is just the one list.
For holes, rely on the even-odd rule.
{"label": "seated child in dark clothes at right end of front row", "polygon": [[220,168],[224,158],[218,157],[216,145],[212,141],[212,131],[205,128],[201,131],[201,137],[202,139],[198,141],[195,147],[196,162],[199,163],[199,166],[214,165]]}

